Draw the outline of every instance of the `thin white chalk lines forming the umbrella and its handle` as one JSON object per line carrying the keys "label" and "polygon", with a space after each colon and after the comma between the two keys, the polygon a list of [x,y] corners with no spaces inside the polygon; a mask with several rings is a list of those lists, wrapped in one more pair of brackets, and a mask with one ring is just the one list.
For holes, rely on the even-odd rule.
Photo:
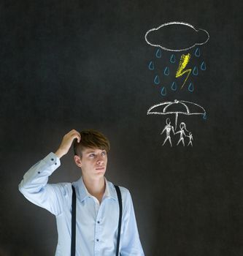
{"label": "thin white chalk lines forming the umbrella and its handle", "polygon": [[[173,104],[182,104],[185,109],[186,109],[186,112],[182,112],[182,111],[169,111],[169,112],[166,112],[166,109],[169,108],[169,106],[173,105]],[[187,103],[189,104],[192,104],[192,105],[196,105],[199,109],[201,109],[203,111],[203,113],[201,112],[193,112],[193,113],[190,113],[190,110],[188,108],[188,105],[186,105]],[[162,105],[166,105],[164,108],[163,108],[163,112],[150,112],[151,110],[153,110],[153,108],[157,108],[159,106],[162,106]],[[153,105],[152,107],[150,107],[148,110],[147,110],[147,115],[168,115],[168,114],[175,114],[176,117],[175,117],[175,130],[177,130],[177,118],[178,118],[178,114],[183,114],[183,115],[187,115],[187,116],[190,116],[190,115],[202,115],[202,116],[206,116],[206,110],[204,110],[203,107],[201,107],[200,105],[196,104],[196,103],[193,103],[193,102],[188,102],[188,101],[185,101],[185,100],[177,100],[177,99],[174,99],[174,102],[161,102],[161,103],[158,103],[156,105]]]}

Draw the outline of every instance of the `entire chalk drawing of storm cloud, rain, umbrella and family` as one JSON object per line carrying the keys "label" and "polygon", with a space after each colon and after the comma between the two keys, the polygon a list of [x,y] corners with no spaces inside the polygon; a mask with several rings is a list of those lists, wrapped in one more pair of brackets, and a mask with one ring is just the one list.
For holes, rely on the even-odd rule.
{"label": "entire chalk drawing of storm cloud, rain, umbrella and family", "polygon": [[[200,34],[196,34],[198,32]],[[171,37],[168,37],[168,34],[166,33],[170,33],[172,36],[175,35],[177,37],[172,38],[171,42],[168,42],[166,39]],[[199,38],[198,36],[203,35],[204,39],[196,39]],[[156,37],[157,39],[155,39]],[[153,60],[150,60],[148,67],[150,70],[155,70],[156,67],[156,73],[153,74],[153,83],[158,87],[161,97],[169,96],[169,91],[178,94],[180,89],[183,89],[184,87],[187,91],[193,93],[196,88],[193,79],[195,79],[196,76],[201,75],[201,73],[207,69],[199,45],[204,45],[209,41],[209,33],[205,29],[196,29],[189,23],[173,21],[163,23],[161,26],[150,29],[146,32],[144,38],[148,45],[157,48],[154,51],[155,55],[153,56]],[[158,38],[164,39],[162,39],[161,42],[152,42],[152,40],[158,41]],[[194,42],[189,42],[190,39]],[[199,40],[200,42],[198,42]],[[171,46],[173,42],[174,46]],[[181,42],[186,42],[187,47],[182,46]],[[190,50],[194,47],[195,49]],[[169,53],[168,55],[168,53],[162,53],[162,50],[172,53]],[[180,53],[188,50],[190,50],[190,52]],[[163,58],[161,58],[162,56]],[[161,61],[165,63],[162,64]],[[177,99],[174,99],[173,101],[164,101],[151,106],[147,110],[147,115],[170,116],[166,118],[166,124],[161,131],[161,135],[165,135],[162,146],[168,145],[171,147],[173,145],[193,147],[194,132],[192,133],[190,129],[188,131],[184,121],[180,122],[180,126],[177,129],[179,116],[180,119],[182,119],[183,116],[197,115],[202,116],[204,120],[207,119],[206,110],[201,107],[201,105]],[[174,116],[175,118],[172,122],[171,116]]]}

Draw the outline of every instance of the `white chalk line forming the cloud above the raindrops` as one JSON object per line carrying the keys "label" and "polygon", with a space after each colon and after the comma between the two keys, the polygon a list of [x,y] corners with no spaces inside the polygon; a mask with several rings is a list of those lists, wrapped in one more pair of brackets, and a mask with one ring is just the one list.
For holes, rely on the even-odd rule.
{"label": "white chalk line forming the cloud above the raindrops", "polygon": [[[196,32],[198,31],[205,31],[207,33],[207,40],[205,42],[196,42],[196,44],[194,44],[193,46],[189,47],[189,48],[184,48],[184,49],[169,49],[169,48],[165,48],[161,45],[153,45],[152,43],[150,43],[148,40],[147,40],[147,35],[151,32],[151,31],[155,31],[155,30],[158,30],[158,29],[161,29],[163,26],[169,26],[169,25],[174,25],[174,24],[180,24],[180,25],[185,25],[185,26],[190,26],[190,28],[194,29]],[[158,28],[153,28],[153,29],[150,29],[149,31],[147,31],[147,33],[145,34],[145,41],[147,42],[147,44],[149,45],[152,45],[154,47],[159,47],[163,50],[169,50],[169,51],[182,51],[182,50],[189,50],[190,48],[193,48],[194,46],[196,45],[204,45],[207,43],[207,41],[209,40],[209,33],[205,30],[205,29],[195,29],[193,27],[193,25],[190,25],[189,23],[185,23],[185,22],[181,22],[181,21],[171,21],[169,23],[163,23],[161,26],[158,26]]]}

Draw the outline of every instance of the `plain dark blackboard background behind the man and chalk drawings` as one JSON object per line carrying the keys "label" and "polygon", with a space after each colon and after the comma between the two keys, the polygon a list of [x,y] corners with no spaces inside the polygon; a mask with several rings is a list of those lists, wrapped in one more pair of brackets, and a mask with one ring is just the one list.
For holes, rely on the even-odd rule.
{"label": "plain dark blackboard background behind the man and chalk drawings", "polygon": [[[145,255],[243,255],[242,1],[0,3],[0,255],[54,255],[55,218],[18,183],[69,129],[112,143],[107,178],[131,190]],[[181,20],[209,31],[193,94],[207,121],[185,118],[193,148],[162,147],[164,116],[144,34]],[[173,100],[173,95],[165,97]],[[51,182],[80,176],[72,152]]]}

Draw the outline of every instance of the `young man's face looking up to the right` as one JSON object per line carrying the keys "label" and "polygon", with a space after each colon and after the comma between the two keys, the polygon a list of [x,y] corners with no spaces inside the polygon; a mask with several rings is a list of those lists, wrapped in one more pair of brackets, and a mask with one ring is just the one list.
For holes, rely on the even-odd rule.
{"label": "young man's face looking up to the right", "polygon": [[85,148],[80,162],[83,176],[102,177],[107,170],[107,151],[99,148]]}

